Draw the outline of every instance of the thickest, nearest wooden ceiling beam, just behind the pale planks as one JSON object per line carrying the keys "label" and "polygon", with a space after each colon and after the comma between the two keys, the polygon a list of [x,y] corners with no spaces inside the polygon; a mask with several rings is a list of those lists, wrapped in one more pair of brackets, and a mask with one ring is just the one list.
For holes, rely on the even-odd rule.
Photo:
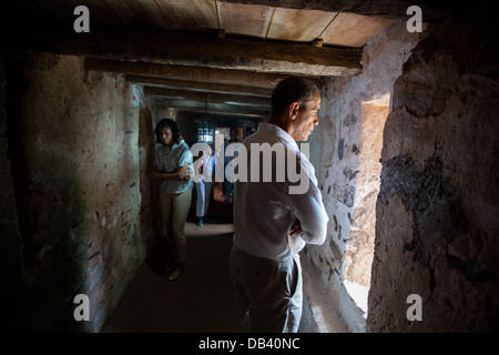
{"label": "thickest, nearest wooden ceiling beam, just behind the pale planks", "polygon": [[201,32],[136,28],[99,28],[77,33],[72,28],[41,28],[19,38],[26,47],[59,54],[96,57],[307,77],[355,75],[361,50],[309,43],[221,39]]}

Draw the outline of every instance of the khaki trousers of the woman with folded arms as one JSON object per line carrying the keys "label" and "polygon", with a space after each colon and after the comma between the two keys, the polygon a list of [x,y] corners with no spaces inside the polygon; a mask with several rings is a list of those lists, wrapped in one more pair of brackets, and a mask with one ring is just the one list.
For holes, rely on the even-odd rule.
{"label": "khaki trousers of the woman with folded arms", "polygon": [[192,190],[182,193],[160,192],[161,229],[165,235],[171,230],[175,241],[176,262],[184,263],[186,257],[185,221],[191,209]]}

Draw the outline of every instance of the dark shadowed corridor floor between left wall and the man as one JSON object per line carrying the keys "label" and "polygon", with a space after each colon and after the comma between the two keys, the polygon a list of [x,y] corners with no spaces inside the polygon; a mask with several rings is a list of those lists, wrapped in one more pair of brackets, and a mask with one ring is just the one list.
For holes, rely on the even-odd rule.
{"label": "dark shadowed corridor floor between left wall and the man", "polygon": [[[101,332],[234,332],[235,297],[230,276],[232,232],[208,235],[232,225],[187,223],[187,262],[181,278],[169,282],[155,251],[139,270]],[[196,231],[204,230],[204,233]],[[197,235],[192,232],[197,232]]]}

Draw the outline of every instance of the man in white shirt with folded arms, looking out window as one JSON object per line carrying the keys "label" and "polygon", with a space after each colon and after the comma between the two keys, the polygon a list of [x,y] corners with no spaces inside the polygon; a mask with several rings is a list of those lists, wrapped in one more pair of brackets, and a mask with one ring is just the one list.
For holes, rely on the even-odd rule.
{"label": "man in white shirt with folded arms, looking out window", "polygon": [[[298,252],[306,243],[324,243],[328,217],[315,170],[296,141],[308,140],[319,106],[315,84],[295,77],[283,80],[272,95],[269,122],[244,140],[246,154],[238,155],[247,155],[247,164],[240,161],[237,168],[247,169],[247,179],[235,181],[231,268],[238,317],[249,316],[251,332],[298,329]],[[299,181],[293,169],[299,171]]]}

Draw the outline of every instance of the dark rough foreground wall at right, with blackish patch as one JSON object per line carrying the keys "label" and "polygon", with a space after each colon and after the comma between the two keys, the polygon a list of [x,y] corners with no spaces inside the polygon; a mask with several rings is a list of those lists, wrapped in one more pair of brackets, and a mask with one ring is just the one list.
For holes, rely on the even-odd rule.
{"label": "dark rough foreground wall at right, with blackish patch", "polygon": [[[376,211],[373,332],[499,329],[498,29],[473,10],[418,44],[395,85]],[[406,318],[409,294],[421,296],[422,321]]]}

